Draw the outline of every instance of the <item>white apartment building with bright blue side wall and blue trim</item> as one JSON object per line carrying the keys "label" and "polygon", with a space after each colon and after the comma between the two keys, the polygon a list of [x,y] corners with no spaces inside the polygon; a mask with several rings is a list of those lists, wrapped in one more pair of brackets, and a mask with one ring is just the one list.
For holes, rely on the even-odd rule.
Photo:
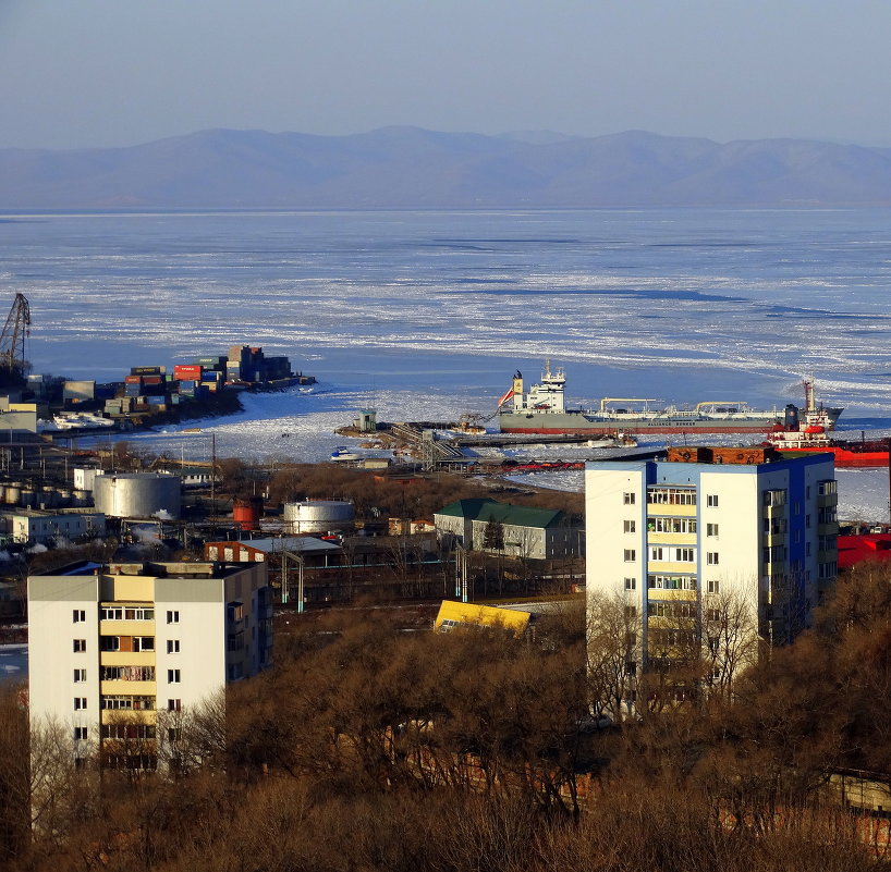
{"label": "white apartment building with bright blue side wall and blue trim", "polygon": [[684,646],[715,648],[731,600],[760,639],[789,641],[834,582],[837,502],[827,454],[674,449],[666,462],[588,463],[589,618],[603,594],[624,600],[632,673]]}

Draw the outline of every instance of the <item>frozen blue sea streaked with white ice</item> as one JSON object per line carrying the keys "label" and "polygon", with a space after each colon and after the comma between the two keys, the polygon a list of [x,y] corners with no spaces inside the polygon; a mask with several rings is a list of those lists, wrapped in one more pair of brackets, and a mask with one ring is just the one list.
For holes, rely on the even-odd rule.
{"label": "frozen blue sea streaked with white ice", "polygon": [[[200,433],[135,438],[190,457],[212,431],[220,455],[322,459],[369,404],[489,414],[545,357],[581,405],[781,408],[814,376],[844,428],[886,434],[890,282],[887,209],[0,213],[0,286],[30,302],[35,371],[113,380],[239,343],[319,379]],[[884,474],[839,478],[842,514],[887,519]]]}

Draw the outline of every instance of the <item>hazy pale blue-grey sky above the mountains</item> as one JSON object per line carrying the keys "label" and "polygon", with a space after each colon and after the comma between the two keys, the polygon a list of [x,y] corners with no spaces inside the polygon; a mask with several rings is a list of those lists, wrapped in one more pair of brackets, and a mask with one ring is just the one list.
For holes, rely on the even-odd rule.
{"label": "hazy pale blue-grey sky above the mountains", "polygon": [[0,147],[389,124],[891,145],[890,0],[0,0]]}

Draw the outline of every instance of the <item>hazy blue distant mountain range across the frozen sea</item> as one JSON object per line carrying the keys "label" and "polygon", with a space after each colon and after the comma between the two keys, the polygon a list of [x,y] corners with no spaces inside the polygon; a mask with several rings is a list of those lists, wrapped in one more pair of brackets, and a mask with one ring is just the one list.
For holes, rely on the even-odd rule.
{"label": "hazy blue distant mountain range across the frozen sea", "polygon": [[130,148],[0,149],[0,209],[550,209],[891,204],[891,149],[628,131],[202,131]]}

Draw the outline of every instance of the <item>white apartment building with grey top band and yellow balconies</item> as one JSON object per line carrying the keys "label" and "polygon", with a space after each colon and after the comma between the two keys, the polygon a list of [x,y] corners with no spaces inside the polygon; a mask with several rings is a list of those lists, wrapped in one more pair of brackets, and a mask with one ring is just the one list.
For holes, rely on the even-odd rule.
{"label": "white apartment building with grey top band and yellow balconies", "polygon": [[[30,576],[32,725],[58,725],[77,758],[154,767],[159,713],[270,665],[271,618],[264,564],[83,561]],[[121,739],[139,740],[126,751],[138,759]]]}

